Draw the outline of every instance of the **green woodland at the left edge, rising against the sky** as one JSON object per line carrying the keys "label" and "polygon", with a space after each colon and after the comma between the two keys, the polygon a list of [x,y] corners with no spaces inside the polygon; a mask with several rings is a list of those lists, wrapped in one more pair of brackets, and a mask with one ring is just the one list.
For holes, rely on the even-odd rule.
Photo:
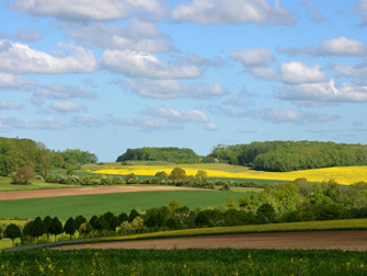
{"label": "green woodland at the left edge, rising against the sky", "polygon": [[46,176],[54,168],[78,169],[81,164],[95,163],[95,154],[80,149],[49,150],[43,142],[31,139],[0,137],[0,175],[9,176],[24,165]]}

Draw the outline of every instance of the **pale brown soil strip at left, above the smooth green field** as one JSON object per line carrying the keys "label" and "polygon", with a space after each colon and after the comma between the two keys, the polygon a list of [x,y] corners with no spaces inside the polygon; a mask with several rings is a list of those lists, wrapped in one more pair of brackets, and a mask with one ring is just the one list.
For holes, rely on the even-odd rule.
{"label": "pale brown soil strip at left, above the smooth green field", "polygon": [[197,188],[173,187],[173,186],[140,186],[140,187],[138,186],[112,186],[112,187],[81,187],[81,188],[14,191],[14,192],[1,192],[0,200],[55,197],[55,196],[72,196],[72,195],[146,192],[146,191],[177,191],[177,189],[184,191],[184,189],[197,189]]}

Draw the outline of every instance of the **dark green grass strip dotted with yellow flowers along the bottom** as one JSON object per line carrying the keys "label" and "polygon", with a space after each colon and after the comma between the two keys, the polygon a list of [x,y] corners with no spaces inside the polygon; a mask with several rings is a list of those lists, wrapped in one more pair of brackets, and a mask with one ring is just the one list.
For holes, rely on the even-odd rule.
{"label": "dark green grass strip dotted with yellow flowers along the bottom", "polygon": [[28,250],[2,252],[1,275],[367,274],[367,252],[341,250]]}

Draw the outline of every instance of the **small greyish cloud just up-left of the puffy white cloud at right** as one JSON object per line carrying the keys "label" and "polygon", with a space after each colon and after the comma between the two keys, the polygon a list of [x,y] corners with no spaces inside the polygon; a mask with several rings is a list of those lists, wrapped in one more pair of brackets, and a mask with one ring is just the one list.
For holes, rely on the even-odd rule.
{"label": "small greyish cloud just up-left of the puffy white cloud at right", "polygon": [[266,62],[275,61],[271,49],[253,48],[249,50],[231,50],[232,58],[240,61],[244,67],[263,66]]}

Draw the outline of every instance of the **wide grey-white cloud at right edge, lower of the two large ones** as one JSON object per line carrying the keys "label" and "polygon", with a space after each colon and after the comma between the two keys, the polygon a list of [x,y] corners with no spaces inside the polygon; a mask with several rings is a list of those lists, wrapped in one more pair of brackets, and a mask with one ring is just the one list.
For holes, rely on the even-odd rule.
{"label": "wide grey-white cloud at right edge, lower of the two large ones", "polygon": [[335,106],[340,103],[367,102],[367,87],[343,83],[339,88],[331,79],[322,83],[285,85],[277,91],[276,97],[291,101],[303,106]]}

